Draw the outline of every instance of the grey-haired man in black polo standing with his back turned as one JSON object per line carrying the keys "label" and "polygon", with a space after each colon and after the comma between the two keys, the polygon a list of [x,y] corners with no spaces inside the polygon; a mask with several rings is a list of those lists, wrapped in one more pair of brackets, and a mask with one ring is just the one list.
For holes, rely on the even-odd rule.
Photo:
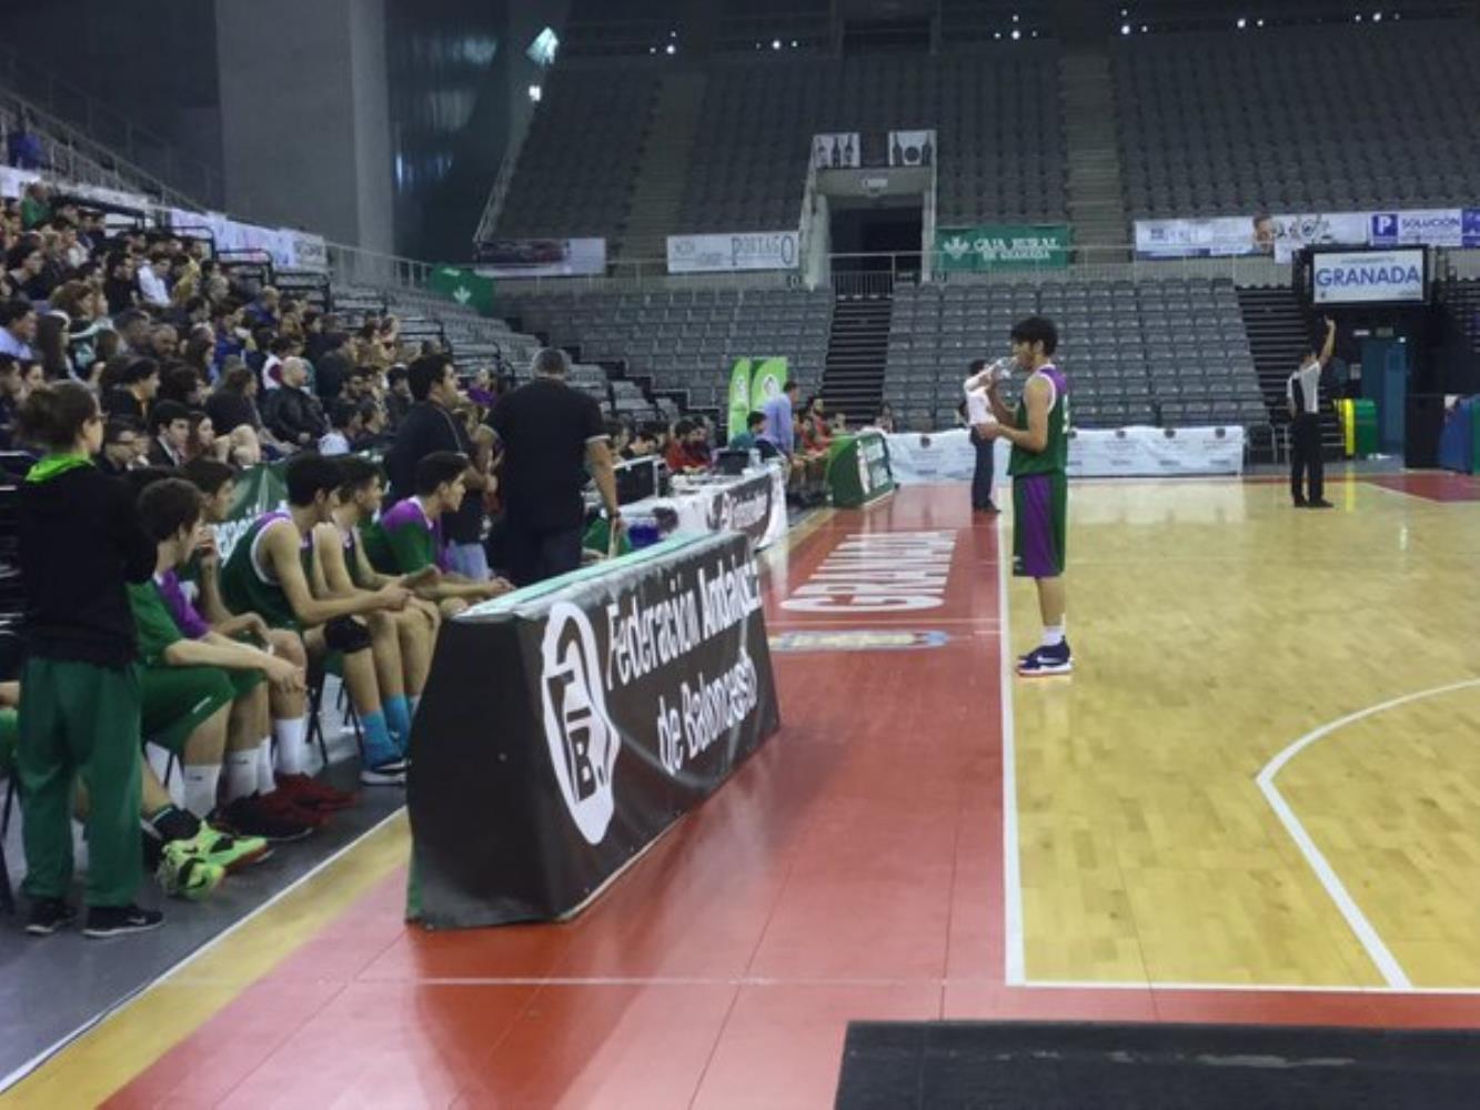
{"label": "grey-haired man in black polo standing with his back turned", "polygon": [[517,586],[567,574],[580,567],[586,471],[622,528],[617,477],[601,407],[565,385],[570,360],[546,348],[534,357],[534,380],[505,394],[493,410],[503,440],[505,543]]}

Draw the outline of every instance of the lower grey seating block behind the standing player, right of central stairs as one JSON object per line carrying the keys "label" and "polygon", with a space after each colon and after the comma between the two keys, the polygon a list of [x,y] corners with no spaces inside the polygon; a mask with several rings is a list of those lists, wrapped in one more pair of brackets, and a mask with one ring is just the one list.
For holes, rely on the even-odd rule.
{"label": "lower grey seating block behind the standing player, right of central stairs", "polygon": [[910,428],[952,426],[969,363],[1035,312],[1058,323],[1076,426],[1268,423],[1233,286],[1181,278],[897,289],[885,400]]}

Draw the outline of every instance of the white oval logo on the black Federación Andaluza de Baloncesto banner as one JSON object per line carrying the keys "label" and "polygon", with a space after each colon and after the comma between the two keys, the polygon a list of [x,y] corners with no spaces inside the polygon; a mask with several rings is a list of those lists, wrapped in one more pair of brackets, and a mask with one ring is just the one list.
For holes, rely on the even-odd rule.
{"label": "white oval logo on the black Federaci\u00f3n Andaluza de Baloncesto banner", "polygon": [[622,737],[607,715],[596,636],[570,602],[551,607],[540,648],[545,740],[565,808],[588,844],[601,844],[616,811],[611,773]]}

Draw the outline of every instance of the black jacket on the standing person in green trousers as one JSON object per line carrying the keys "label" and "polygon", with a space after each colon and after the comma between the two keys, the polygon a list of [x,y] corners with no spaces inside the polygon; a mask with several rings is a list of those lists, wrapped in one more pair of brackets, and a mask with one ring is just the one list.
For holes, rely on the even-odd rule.
{"label": "black jacket on the standing person in green trousers", "polygon": [[16,511],[27,651],[102,666],[136,653],[124,585],[148,582],[155,545],[127,487],[95,466],[21,482]]}

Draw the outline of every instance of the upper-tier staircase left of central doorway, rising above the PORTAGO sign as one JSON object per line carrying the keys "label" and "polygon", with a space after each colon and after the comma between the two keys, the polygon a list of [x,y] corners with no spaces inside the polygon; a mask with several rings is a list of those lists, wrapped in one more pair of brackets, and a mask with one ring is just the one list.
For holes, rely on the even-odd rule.
{"label": "upper-tier staircase left of central doorway, rising above the PORTAGO sign", "polygon": [[632,191],[626,231],[614,252],[619,262],[659,262],[667,258],[667,237],[678,229],[707,80],[702,70],[679,70],[663,78],[644,144],[642,169]]}

